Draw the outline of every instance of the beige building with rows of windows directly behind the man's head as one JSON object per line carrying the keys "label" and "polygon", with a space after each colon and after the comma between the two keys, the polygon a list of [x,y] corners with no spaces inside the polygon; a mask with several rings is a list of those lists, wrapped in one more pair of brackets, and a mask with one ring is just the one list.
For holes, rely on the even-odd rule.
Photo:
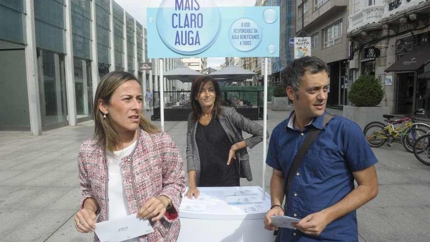
{"label": "beige building with rows of windows directly behind the man's head", "polygon": [[301,37],[311,37],[312,56],[323,59],[329,66],[328,105],[346,105],[348,1],[297,0],[296,4],[296,32],[301,32]]}

